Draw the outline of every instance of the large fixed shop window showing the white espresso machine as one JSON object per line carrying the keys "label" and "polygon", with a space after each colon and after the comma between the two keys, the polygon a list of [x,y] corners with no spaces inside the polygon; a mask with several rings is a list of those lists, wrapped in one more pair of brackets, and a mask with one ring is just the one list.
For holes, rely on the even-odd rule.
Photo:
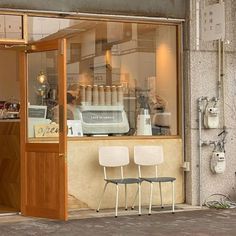
{"label": "large fixed shop window showing the white espresso machine", "polygon": [[45,34],[31,22],[30,38],[67,38],[68,135],[178,135],[176,25],[51,22]]}

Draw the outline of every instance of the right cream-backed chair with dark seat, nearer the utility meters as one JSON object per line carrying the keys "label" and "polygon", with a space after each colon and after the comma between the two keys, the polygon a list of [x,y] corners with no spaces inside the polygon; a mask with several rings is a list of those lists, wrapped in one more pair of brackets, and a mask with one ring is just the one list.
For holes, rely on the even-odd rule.
{"label": "right cream-backed chair with dark seat, nearer the utility meters", "polygon": [[[163,163],[163,148],[162,146],[134,146],[134,162],[138,165],[139,178],[142,181],[150,183],[150,201],[149,201],[149,212],[151,215],[152,210],[152,192],[153,192],[153,183],[159,183],[160,188],[160,198],[161,198],[161,207],[162,204],[162,192],[161,184],[165,182],[172,183],[172,213],[175,211],[175,185],[174,182],[176,178],[174,177],[159,177],[157,174],[157,166]],[[155,176],[142,177],[141,175],[141,166],[153,166],[155,167]]]}

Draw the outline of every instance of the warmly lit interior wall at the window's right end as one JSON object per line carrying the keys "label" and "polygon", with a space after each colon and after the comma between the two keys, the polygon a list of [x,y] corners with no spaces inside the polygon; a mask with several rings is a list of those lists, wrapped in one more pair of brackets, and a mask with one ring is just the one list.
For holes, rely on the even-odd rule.
{"label": "warmly lit interior wall at the window's right end", "polygon": [[171,134],[177,134],[177,59],[176,27],[160,25],[156,37],[156,91],[167,101],[171,113]]}

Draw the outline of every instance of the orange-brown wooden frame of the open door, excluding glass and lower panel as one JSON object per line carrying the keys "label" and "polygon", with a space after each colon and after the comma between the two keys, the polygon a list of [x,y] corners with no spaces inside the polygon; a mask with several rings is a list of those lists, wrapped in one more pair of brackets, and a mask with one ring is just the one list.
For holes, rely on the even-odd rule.
{"label": "orange-brown wooden frame of the open door, excluding glass and lower panel", "polygon": [[[34,47],[36,46],[36,47]],[[67,187],[67,134],[66,134],[66,39],[51,40],[32,44],[27,52],[40,52],[40,51],[51,51],[58,50],[58,85],[59,85],[59,116],[62,122],[59,124],[59,143],[51,144],[52,150],[59,149],[59,168],[63,169],[59,176],[59,182],[64,183],[62,188],[62,195],[59,196],[60,205],[64,207],[60,208],[59,219],[68,219],[68,187]],[[27,52],[20,52],[19,55],[19,74],[20,74],[20,91],[21,91],[21,109],[20,109],[20,154],[21,154],[21,212],[26,215],[26,151],[41,150],[40,143],[28,143],[27,141],[27,102],[28,102],[28,79],[27,79]],[[58,150],[57,149],[57,150]],[[48,151],[48,150],[47,150]]]}

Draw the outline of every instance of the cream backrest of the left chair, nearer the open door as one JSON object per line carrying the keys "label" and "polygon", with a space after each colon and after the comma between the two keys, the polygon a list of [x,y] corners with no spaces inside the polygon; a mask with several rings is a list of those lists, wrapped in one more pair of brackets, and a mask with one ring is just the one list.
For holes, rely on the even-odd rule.
{"label": "cream backrest of the left chair, nearer the open door", "polygon": [[99,148],[99,164],[104,167],[120,167],[129,164],[129,149],[124,146]]}

